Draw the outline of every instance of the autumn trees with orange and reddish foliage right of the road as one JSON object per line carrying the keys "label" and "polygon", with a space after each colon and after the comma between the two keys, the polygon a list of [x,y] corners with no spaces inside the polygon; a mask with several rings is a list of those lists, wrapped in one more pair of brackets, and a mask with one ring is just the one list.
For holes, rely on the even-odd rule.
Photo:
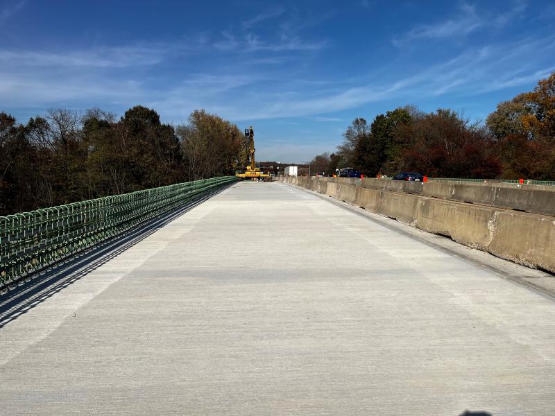
{"label": "autumn trees with orange and reddish foliage right of the road", "polygon": [[416,171],[431,177],[555,178],[555,73],[532,92],[497,105],[484,122],[450,109],[407,105],[357,118],[336,152],[312,162],[313,172],[353,167],[368,176]]}

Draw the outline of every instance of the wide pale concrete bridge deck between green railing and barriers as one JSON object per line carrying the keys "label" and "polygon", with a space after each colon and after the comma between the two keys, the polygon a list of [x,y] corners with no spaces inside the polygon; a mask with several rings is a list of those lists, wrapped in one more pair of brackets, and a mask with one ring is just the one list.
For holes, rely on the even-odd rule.
{"label": "wide pale concrete bridge deck between green railing and barriers", "polygon": [[0,414],[554,415],[541,276],[405,228],[234,184],[1,327]]}

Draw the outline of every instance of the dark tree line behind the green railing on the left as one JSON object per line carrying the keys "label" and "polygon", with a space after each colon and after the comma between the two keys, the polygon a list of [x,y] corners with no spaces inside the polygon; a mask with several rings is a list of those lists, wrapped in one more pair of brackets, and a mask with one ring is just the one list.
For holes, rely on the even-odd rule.
{"label": "dark tree line behind the green railing on the left", "polygon": [[119,119],[54,109],[25,125],[0,112],[0,215],[232,175],[245,164],[244,134],[204,110],[175,128],[140,105]]}

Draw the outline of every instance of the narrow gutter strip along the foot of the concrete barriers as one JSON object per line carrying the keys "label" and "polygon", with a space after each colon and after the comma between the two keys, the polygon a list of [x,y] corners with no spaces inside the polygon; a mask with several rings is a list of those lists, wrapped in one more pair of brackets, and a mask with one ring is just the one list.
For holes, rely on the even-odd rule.
{"label": "narrow gutter strip along the foot of the concrete barriers", "polygon": [[[287,182],[284,182],[284,183],[287,183]],[[378,225],[381,225],[382,227],[390,229],[393,232],[397,232],[398,234],[402,234],[404,236],[408,236],[412,239],[420,241],[420,243],[423,243],[423,244],[427,245],[430,248],[434,248],[435,250],[439,250],[441,252],[445,252],[447,254],[453,255],[453,256],[455,256],[459,259],[462,259],[463,261],[467,261],[468,263],[472,263],[475,266],[487,268],[488,270],[494,272],[495,275],[501,277],[502,279],[505,279],[507,281],[511,281],[514,284],[518,284],[519,286],[522,286],[523,288],[527,288],[530,291],[533,291],[533,293],[536,293],[538,295],[546,297],[547,299],[552,300],[552,301],[555,302],[555,291],[553,291],[552,289],[545,288],[544,286],[540,286],[538,284],[534,284],[531,281],[527,281],[527,280],[524,279],[524,277],[522,277],[520,275],[511,275],[509,272],[506,272],[504,270],[500,270],[499,268],[497,268],[495,266],[492,266],[491,264],[488,264],[484,261],[479,261],[477,259],[472,259],[471,257],[469,257],[466,254],[456,252],[456,250],[454,250],[452,248],[448,248],[448,247],[445,247],[443,245],[439,245],[438,243],[434,243],[433,241],[428,241],[423,236],[417,236],[415,234],[411,234],[411,232],[408,232],[407,230],[404,230],[402,228],[408,226],[408,227],[410,227],[411,230],[418,230],[418,231],[423,232],[423,233],[425,233],[429,236],[437,236],[438,238],[441,238],[441,236],[439,234],[434,234],[432,232],[427,232],[427,231],[425,231],[423,229],[420,229],[420,228],[417,228],[417,227],[411,227],[410,225],[407,225],[407,224],[402,223],[398,220],[395,220],[394,218],[389,218],[388,216],[384,216],[382,214],[377,214],[375,212],[368,211],[364,208],[357,208],[354,205],[349,204],[348,202],[341,202],[339,200],[336,200],[332,196],[323,196],[323,195],[317,193],[316,191],[311,191],[309,189],[298,187],[298,186],[293,185],[293,184],[289,184],[289,186],[293,186],[293,187],[301,189],[302,191],[305,191],[307,193],[311,193],[314,196],[316,196],[317,198],[320,198],[322,200],[330,202],[330,203],[336,205],[337,207],[345,209],[346,211],[351,211],[353,214],[361,216],[362,218],[366,218],[367,220],[370,220],[373,223],[376,223]],[[361,210],[361,211],[359,211],[359,210]],[[371,214],[377,215],[380,218],[373,218],[373,216],[370,216]],[[395,225],[393,225],[393,224],[386,223],[386,221],[388,219],[395,220],[395,225],[398,225],[398,227],[395,227]],[[458,243],[458,242],[456,242],[456,241],[454,241],[453,239],[450,239],[450,238],[445,238],[444,237],[444,238],[442,238],[442,240],[450,242],[454,245],[457,245],[460,248],[468,248],[469,250],[477,250],[477,251],[479,251],[483,254],[490,255],[490,256],[494,257],[495,259],[498,259],[499,261],[506,261],[507,263],[518,265],[520,267],[527,267],[525,265],[515,263],[511,260],[504,259],[502,257],[496,256],[493,253],[490,253],[490,252],[487,252],[487,251],[484,251],[484,250],[479,250],[477,248],[471,248],[468,245]],[[535,272],[541,272],[545,275],[545,277],[553,277],[553,275],[548,274],[547,272],[544,272],[543,270],[538,270],[538,269],[535,269],[535,268],[530,268],[530,270],[533,270]]]}

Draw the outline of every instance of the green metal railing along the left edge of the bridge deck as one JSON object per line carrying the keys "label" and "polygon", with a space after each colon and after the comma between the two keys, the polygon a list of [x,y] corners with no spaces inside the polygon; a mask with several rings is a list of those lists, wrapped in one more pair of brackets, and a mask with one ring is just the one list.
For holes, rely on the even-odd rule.
{"label": "green metal railing along the left edge of the bridge deck", "polygon": [[236,180],[215,177],[0,217],[0,288]]}

